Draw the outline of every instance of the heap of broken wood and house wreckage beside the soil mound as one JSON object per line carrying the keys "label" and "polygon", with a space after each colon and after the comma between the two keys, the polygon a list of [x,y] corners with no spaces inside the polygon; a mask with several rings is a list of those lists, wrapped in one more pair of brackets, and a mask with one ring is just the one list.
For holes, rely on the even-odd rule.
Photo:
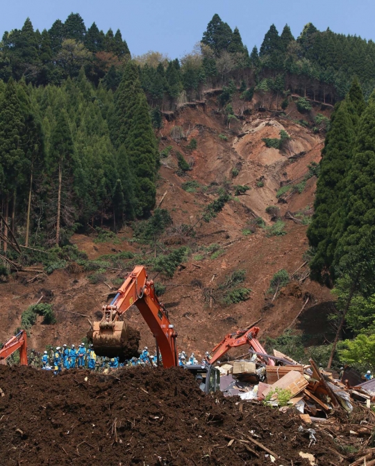
{"label": "heap of broken wood and house wreckage beside the soil mound", "polygon": [[[265,401],[281,406],[281,410],[294,406],[307,422],[325,421],[333,410],[350,413],[356,402],[365,403],[370,408],[373,398],[375,401],[373,380],[351,386],[345,372],[342,382],[334,378],[333,373],[317,367],[312,359],[310,364],[302,365],[274,350],[274,356],[267,357],[281,365],[271,366],[262,362],[265,355],[260,360],[256,352],[250,350],[250,353],[249,361],[219,365],[220,389],[224,396],[239,395],[243,400]],[[352,377],[353,374],[350,374]]]}

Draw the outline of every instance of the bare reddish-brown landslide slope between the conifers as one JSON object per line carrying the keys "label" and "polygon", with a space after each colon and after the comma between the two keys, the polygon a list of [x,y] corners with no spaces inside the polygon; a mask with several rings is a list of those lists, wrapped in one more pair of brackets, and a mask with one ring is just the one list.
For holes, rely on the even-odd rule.
{"label": "bare reddish-brown landslide slope between the conifers", "polygon": [[[187,138],[172,140],[169,134],[174,126],[183,127]],[[277,138],[281,129],[291,137],[285,150],[267,148],[263,138]],[[308,165],[319,162],[322,136],[290,119],[267,112],[247,115],[228,129],[222,115],[215,111],[215,104],[208,102],[205,106],[187,107],[172,120],[166,120],[160,137],[160,150],[169,145],[173,148],[167,158],[161,159],[158,181],[157,204],[162,202],[161,207],[168,209],[174,220],[173,229],[165,240],[167,243],[186,243],[192,249],[190,259],[172,280],[160,280],[158,277],[159,281],[167,284],[162,299],[178,331],[181,348],[202,354],[226,333],[244,328],[258,319],[262,319],[259,323],[260,338],[274,337],[293,323],[307,298],[308,305],[296,327],[313,337],[317,335],[317,341],[321,339],[324,333],[322,316],[331,296],[328,289],[306,277],[306,266],[297,271],[305,262],[303,254],[308,249],[307,226],[298,220],[294,223],[288,219],[292,216],[295,220],[296,213],[311,211],[316,179],[308,179],[302,193],[285,195],[283,202],[278,203],[276,192],[284,184],[301,182],[308,172]],[[186,147],[191,138],[196,138],[197,150],[190,151]],[[184,154],[192,164],[188,176],[178,177],[176,174],[176,151]],[[233,168],[239,171],[235,178]],[[195,193],[181,188],[183,182],[191,180],[201,186]],[[182,225],[194,224],[204,207],[217,198],[215,190],[218,185],[230,184],[247,185],[251,189],[228,202],[210,223],[197,225],[193,238],[185,238],[181,234]],[[272,204],[277,204],[281,216],[287,217],[283,218],[287,234],[267,237],[267,230],[257,228],[253,234],[245,236],[243,230],[247,230],[255,217],[263,217],[267,225],[272,225],[271,217],[265,212],[266,207]],[[124,239],[130,235],[131,230],[127,228],[119,235],[122,238],[120,243],[116,244],[95,244],[92,237],[83,235],[75,235],[72,241],[85,250],[90,259],[94,259],[113,250],[135,250],[136,246]],[[211,258],[204,249],[213,243],[219,244],[222,252],[216,258]],[[294,280],[271,302],[272,295],[266,294],[269,282],[281,268],[290,274],[297,271],[295,277],[299,280]],[[210,290],[215,290],[236,269],[247,272],[241,286],[251,288],[249,300],[226,306],[219,299],[213,299],[210,307],[207,298],[212,294]],[[108,271],[106,283],[111,278],[124,275],[112,272]],[[150,275],[153,278],[153,274]],[[90,284],[85,274],[55,271],[36,280],[32,278],[33,275],[20,274],[18,278],[11,278],[8,283],[0,285],[0,341],[19,326],[22,311],[27,305],[35,303],[43,294],[44,302],[54,305],[58,323],[47,326],[39,321],[33,326],[31,346],[42,350],[46,344],[77,343],[85,336],[90,324],[85,316],[70,312],[97,319],[100,312],[97,316],[95,313],[107,302],[110,291],[103,282]],[[153,346],[151,332],[138,311],[130,310],[126,319],[140,330],[141,344]]]}

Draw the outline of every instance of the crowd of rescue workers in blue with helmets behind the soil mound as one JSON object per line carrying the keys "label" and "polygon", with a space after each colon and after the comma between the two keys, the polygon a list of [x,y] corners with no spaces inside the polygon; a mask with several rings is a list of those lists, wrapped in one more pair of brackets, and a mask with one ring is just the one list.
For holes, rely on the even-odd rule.
{"label": "crowd of rescue workers in blue with helmets behind the soil mound", "polygon": [[[210,359],[210,354],[206,352],[206,359]],[[31,350],[31,354],[28,356],[28,364],[45,370],[53,370],[53,373],[56,375],[61,372],[63,369],[90,369],[92,371],[102,372],[105,369],[118,369],[119,367],[131,367],[131,366],[145,366],[151,365],[156,366],[160,363],[163,363],[162,356],[157,351],[152,355],[149,353],[149,348],[144,346],[143,351],[140,353],[139,357],[132,357],[131,360],[126,360],[125,362],[119,363],[118,357],[98,357],[94,351],[92,344],[87,346],[84,343],[81,343],[76,346],[74,344],[67,346],[56,346],[55,350],[53,348],[49,351],[44,351],[43,355],[40,357],[40,353]],[[184,366],[189,364],[198,364],[198,360],[195,358],[194,353],[190,354],[190,357],[181,351],[178,354],[178,365]]]}

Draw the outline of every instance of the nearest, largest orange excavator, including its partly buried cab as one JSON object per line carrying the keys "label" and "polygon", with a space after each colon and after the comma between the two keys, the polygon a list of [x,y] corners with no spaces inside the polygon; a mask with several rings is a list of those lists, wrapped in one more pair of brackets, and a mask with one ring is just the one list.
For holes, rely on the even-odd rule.
{"label": "nearest, largest orange excavator, including its partly buried cab", "polygon": [[[156,296],[155,287],[144,266],[135,266],[117,291],[112,303],[103,306],[103,318],[92,323],[88,331],[88,338],[92,340],[94,351],[99,356],[123,355],[123,349],[128,342],[128,328],[120,317],[135,305],[142,314],[153,336],[156,339],[156,354],[163,357],[164,367],[178,366],[178,352],[176,345],[177,333],[170,323],[168,312]],[[123,357],[124,358],[124,357]],[[159,360],[158,360],[159,365]],[[219,370],[211,364],[191,364],[185,366],[194,376],[201,374],[205,382],[203,392],[216,392],[219,389]]]}

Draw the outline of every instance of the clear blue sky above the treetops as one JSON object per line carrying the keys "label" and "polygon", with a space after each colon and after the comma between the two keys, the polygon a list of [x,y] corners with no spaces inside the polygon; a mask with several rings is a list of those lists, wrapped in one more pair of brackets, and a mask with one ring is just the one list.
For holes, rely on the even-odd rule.
{"label": "clear blue sky above the treetops", "polygon": [[0,33],[20,29],[26,17],[34,28],[49,29],[55,19],[80,13],[86,26],[120,29],[132,54],[149,50],[171,58],[191,51],[215,13],[233,29],[238,26],[245,45],[260,46],[269,26],[279,32],[288,23],[297,37],[304,24],[320,30],[356,34],[375,40],[374,0],[3,0]]}

